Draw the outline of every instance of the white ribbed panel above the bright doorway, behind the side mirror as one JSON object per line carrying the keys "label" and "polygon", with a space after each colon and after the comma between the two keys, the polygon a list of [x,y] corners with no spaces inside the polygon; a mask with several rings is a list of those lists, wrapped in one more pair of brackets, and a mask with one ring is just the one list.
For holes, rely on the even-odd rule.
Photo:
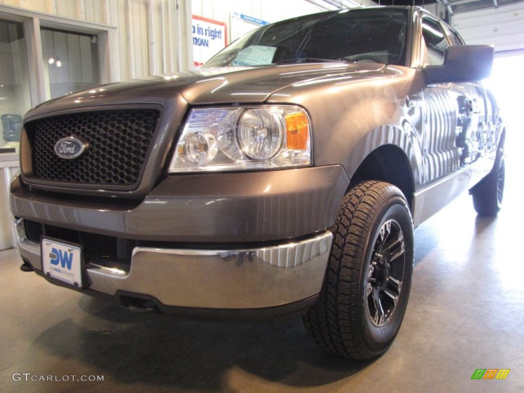
{"label": "white ribbed panel above the bright doorway, behind the side mirror", "polygon": [[466,43],[493,43],[497,52],[524,49],[524,3],[455,14],[453,25]]}

